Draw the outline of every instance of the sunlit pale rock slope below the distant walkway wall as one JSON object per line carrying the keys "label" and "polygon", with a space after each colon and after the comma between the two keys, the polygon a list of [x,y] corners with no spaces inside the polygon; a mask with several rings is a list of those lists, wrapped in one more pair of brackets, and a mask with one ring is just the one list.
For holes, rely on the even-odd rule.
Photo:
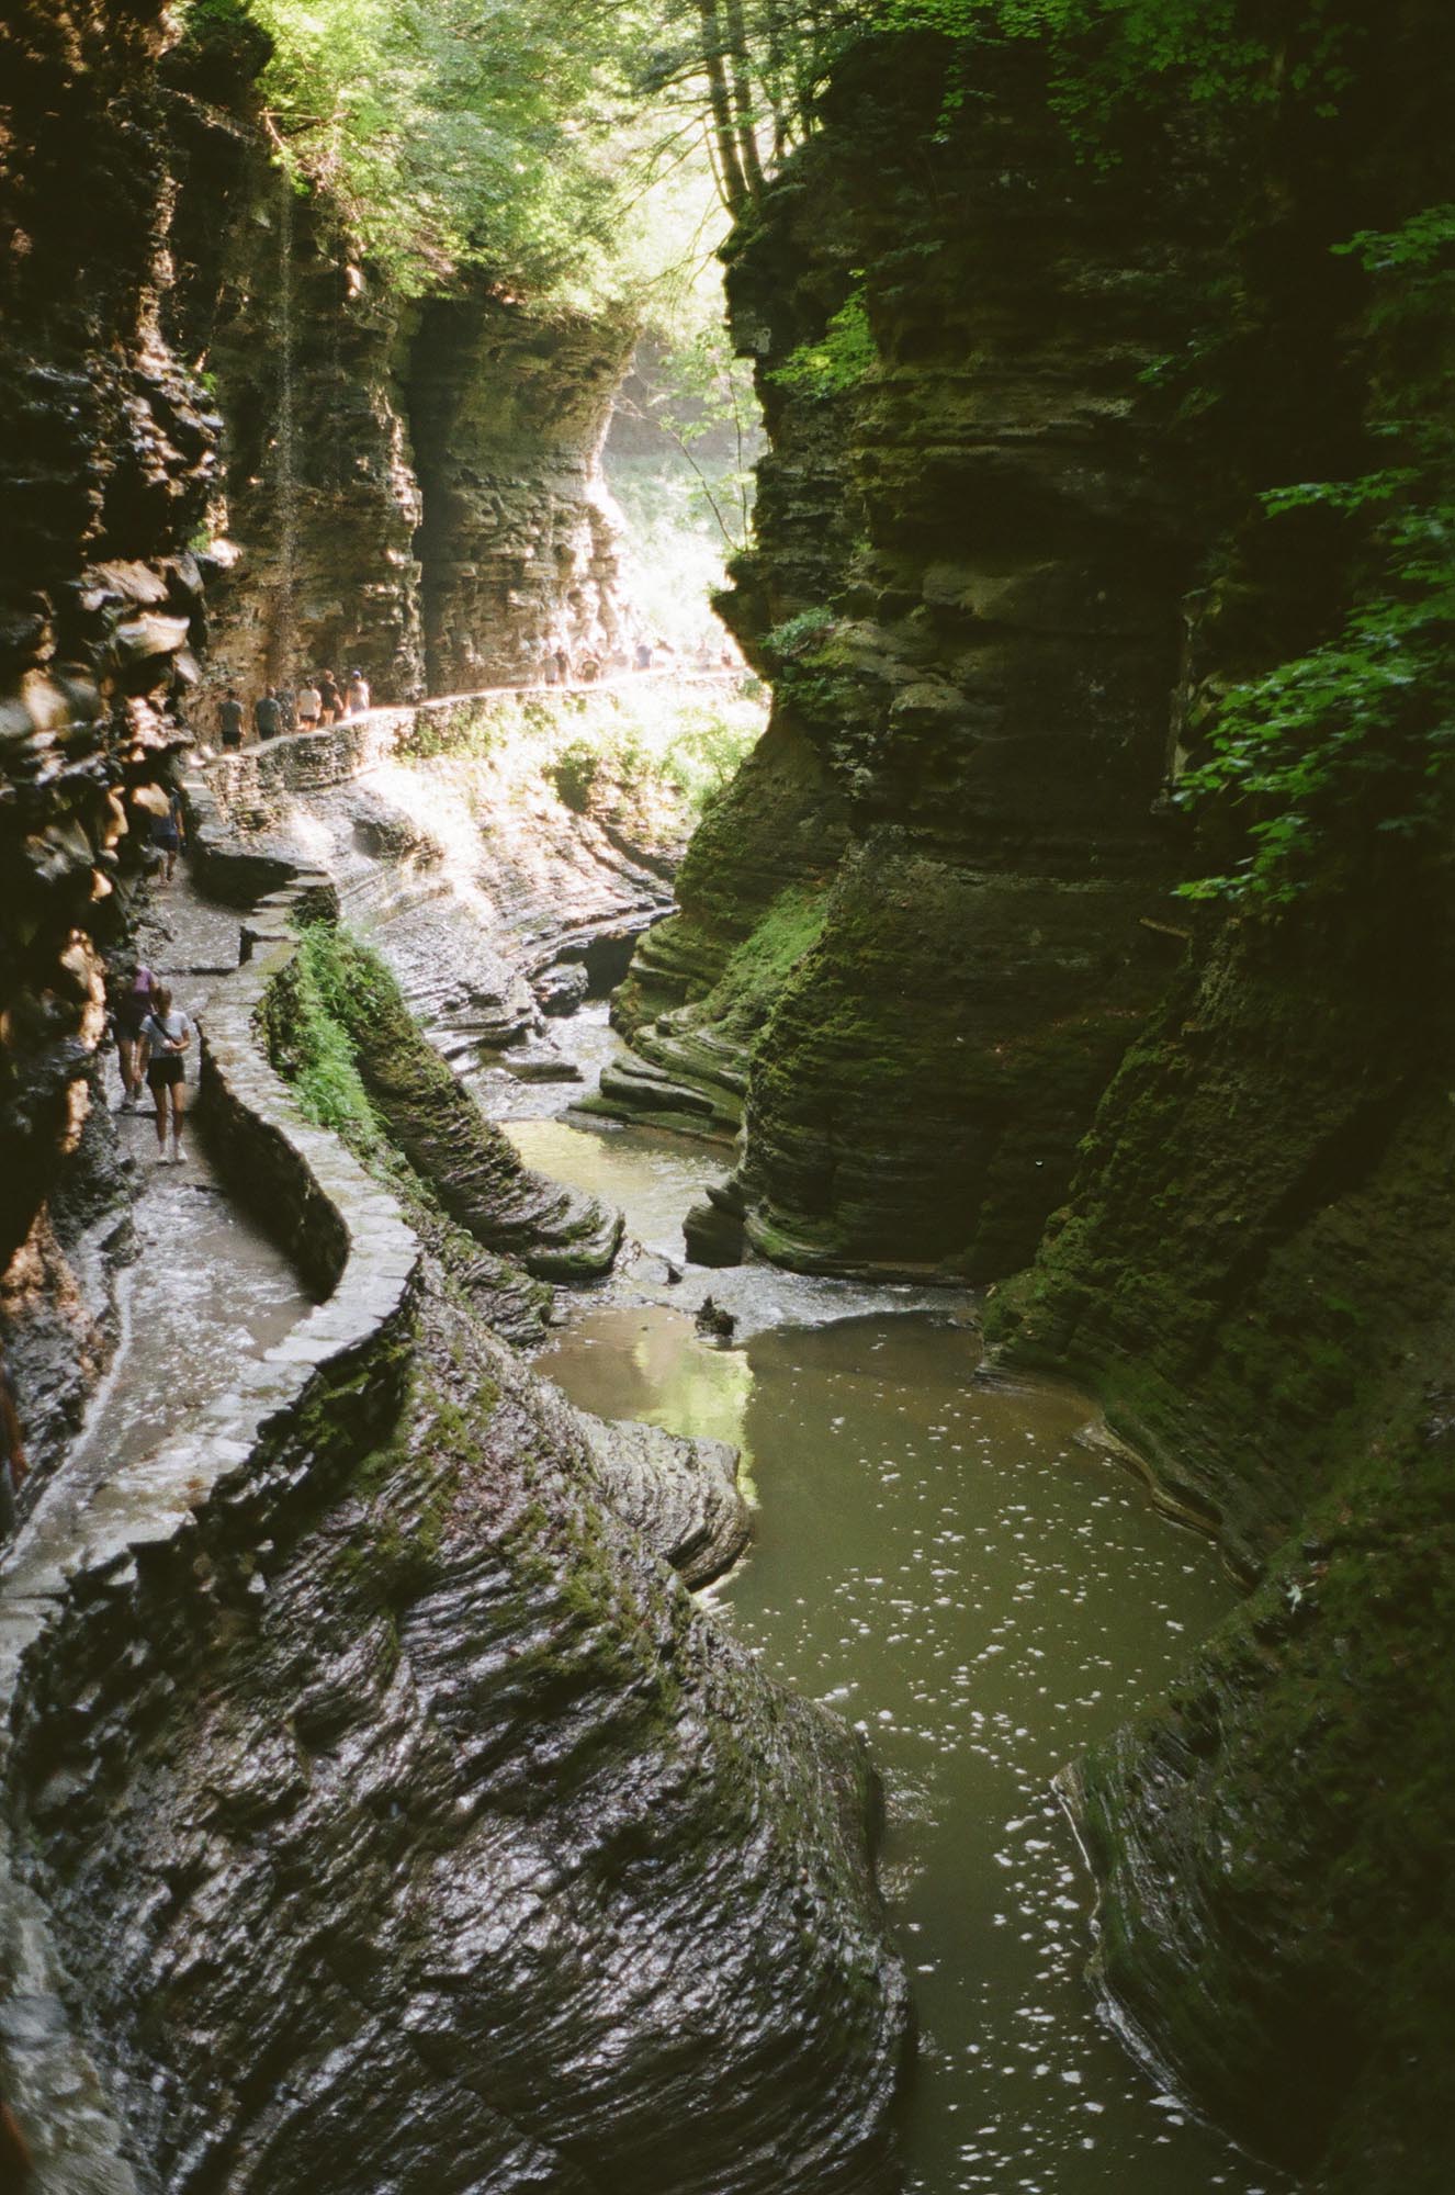
{"label": "sunlit pale rock slope below the distant walkway wall", "polygon": [[448,1058],[544,1062],[546,1003],[610,988],[672,907],[680,803],[639,812],[628,845],[551,779],[555,748],[612,711],[610,694],[465,696],[213,757],[191,792],[202,876],[246,904],[323,863]]}

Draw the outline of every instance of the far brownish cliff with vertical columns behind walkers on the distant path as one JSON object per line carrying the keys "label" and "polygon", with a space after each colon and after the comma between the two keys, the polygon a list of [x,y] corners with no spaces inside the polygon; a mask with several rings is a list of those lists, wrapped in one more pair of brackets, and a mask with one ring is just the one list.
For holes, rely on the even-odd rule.
{"label": "far brownish cliff with vertical columns behind walkers on the distant path", "polygon": [[546,639],[608,645],[597,452],[630,331],[474,277],[402,299],[274,165],[263,59],[246,22],[198,18],[165,64],[169,331],[224,419],[206,707],[316,667],[360,665],[386,700],[514,685]]}

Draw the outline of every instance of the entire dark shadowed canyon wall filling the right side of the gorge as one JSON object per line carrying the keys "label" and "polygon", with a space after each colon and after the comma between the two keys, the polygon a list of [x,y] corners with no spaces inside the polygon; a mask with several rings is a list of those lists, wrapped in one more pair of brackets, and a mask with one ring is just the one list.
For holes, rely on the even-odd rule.
{"label": "entire dark shadowed canyon wall filling the right side of the gorge", "polygon": [[1102,1980],[1222,2125],[1394,2195],[1448,2180],[1455,2063],[1448,803],[1383,834],[1376,753],[1306,896],[1229,918],[1170,885],[1247,812],[1194,843],[1163,786],[1369,586],[1361,522],[1257,496],[1440,408],[1448,272],[1400,320],[1334,248],[1451,202],[1455,72],[1442,11],[1354,11],[1315,110],[1286,29],[1262,99],[1148,101],[1110,171],[1027,46],[950,108],[933,42],[841,66],[731,248],[775,448],[729,617],[775,718],[606,1102],[742,1124],[700,1256],[994,1277],[1045,1227],[1001,1361],[1095,1387],[1255,1583],[1067,1782]]}

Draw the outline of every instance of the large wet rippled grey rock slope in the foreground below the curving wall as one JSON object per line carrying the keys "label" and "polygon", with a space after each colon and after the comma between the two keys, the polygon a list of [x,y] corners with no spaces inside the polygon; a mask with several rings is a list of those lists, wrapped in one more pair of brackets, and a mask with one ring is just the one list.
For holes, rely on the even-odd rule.
{"label": "large wet rippled grey rock slope in the foreground below the curving wall", "polygon": [[858,1749],[496,1370],[430,1306],[395,1440],[151,1609],[132,1765],[94,1664],[79,1743],[35,1703],[35,1872],[132,2140],[178,2191],[882,2186]]}

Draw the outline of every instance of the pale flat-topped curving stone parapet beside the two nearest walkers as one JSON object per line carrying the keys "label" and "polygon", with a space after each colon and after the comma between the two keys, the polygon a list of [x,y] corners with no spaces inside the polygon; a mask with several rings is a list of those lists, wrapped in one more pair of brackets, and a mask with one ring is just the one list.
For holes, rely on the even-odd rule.
{"label": "pale flat-topped curving stone parapet beside the two nearest walkers", "polygon": [[37,1686],[61,1633],[103,1622],[119,1644],[145,1637],[147,1596],[195,1589],[200,1565],[217,1563],[239,1534],[266,1536],[268,1519],[329,1444],[338,1440],[347,1453],[397,1400],[415,1236],[349,1152],[298,1117],[252,1040],[257,1003],[292,953],[279,931],[312,889],[314,880],[301,878],[277,896],[257,933],[268,950],[213,994],[202,1076],[228,1168],[246,1170],[252,1196],[268,1183],[274,1214],[294,1216],[290,1249],[323,1299],[261,1363],[239,1365],[233,1389],[208,1403],[187,1436],[101,1486],[81,1515],[79,1543],[48,1550],[24,1534],[0,1578],[0,1973],[9,1991],[0,2059],[4,2094],[37,2151],[37,2186],[55,2195],[134,2195],[140,2182],[70,2026],[44,1907],[9,1870],[15,1734],[40,1712]]}

